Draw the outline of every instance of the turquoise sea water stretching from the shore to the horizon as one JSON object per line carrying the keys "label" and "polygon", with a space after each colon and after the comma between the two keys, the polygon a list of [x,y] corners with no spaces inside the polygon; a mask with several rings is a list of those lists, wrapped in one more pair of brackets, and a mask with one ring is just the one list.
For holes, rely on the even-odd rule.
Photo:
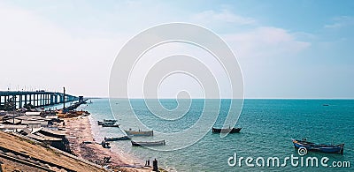
{"label": "turquoise sea water stretching from the shore to the horizon", "polygon": [[[120,136],[123,133],[119,128],[100,128],[96,120],[113,118],[108,99],[92,100],[93,103],[81,108],[91,112],[93,132],[98,141],[104,137]],[[113,100],[112,106],[127,103],[127,101]],[[150,109],[142,100],[131,101],[139,118],[154,130],[176,132],[188,129],[200,117],[203,111],[204,100],[193,100],[185,116],[178,122],[165,124],[150,113]],[[177,101],[162,100],[167,109],[178,106]],[[216,126],[221,126],[227,116],[229,100],[221,101]],[[323,106],[328,104],[329,106]],[[114,107],[113,107],[114,108]],[[151,108],[151,107],[150,107]],[[153,108],[153,107],[152,107]],[[177,109],[178,110],[178,109]],[[123,129],[137,129],[137,123],[129,123],[134,115],[127,109],[114,111]],[[173,113],[173,112],[171,112]],[[173,114],[171,114],[173,116]],[[132,147],[129,141],[112,143],[112,151],[123,150],[133,154],[140,160],[158,159],[162,168],[175,171],[353,171],[354,166],[354,100],[245,100],[242,114],[237,127],[242,127],[241,133],[229,134],[220,138],[219,134],[208,131],[204,138],[196,144],[171,152],[159,152],[143,147]],[[160,139],[154,138],[143,139]],[[168,144],[183,143],[193,136],[185,136],[166,140]],[[279,157],[280,163],[284,158],[293,156],[301,158],[292,145],[291,138],[308,138],[309,141],[319,143],[344,143],[343,154],[308,153],[306,157],[319,159],[319,167],[293,167],[288,161],[285,167],[257,167],[255,160],[263,157]],[[229,157],[252,157],[256,167],[247,167],[245,161],[242,166],[238,164],[230,167],[227,164]],[[350,168],[325,168],[320,165],[320,160],[327,157],[328,166],[333,161],[350,161]],[[233,162],[233,161],[231,161]],[[238,161],[237,161],[238,162]],[[272,164],[271,164],[272,166]]]}

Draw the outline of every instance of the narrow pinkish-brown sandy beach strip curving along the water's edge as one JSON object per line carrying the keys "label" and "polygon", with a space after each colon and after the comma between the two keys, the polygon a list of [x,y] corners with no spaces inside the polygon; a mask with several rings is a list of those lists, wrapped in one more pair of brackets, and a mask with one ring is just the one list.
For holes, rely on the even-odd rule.
{"label": "narrow pinkish-brown sandy beach strip curving along the water's edge", "polygon": [[[134,160],[127,154],[113,153],[99,145],[102,140],[93,138],[89,116],[66,118],[64,123],[63,129],[70,142],[70,149],[78,157],[119,171],[151,171],[152,168],[135,165]],[[85,144],[84,141],[91,143]],[[111,161],[105,163],[104,157],[111,157]]]}

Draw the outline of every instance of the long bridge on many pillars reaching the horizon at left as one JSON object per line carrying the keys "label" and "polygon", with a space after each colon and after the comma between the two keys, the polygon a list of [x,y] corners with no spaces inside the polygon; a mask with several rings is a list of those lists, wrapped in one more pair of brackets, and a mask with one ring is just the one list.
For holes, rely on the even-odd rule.
{"label": "long bridge on many pillars reaching the horizon at left", "polygon": [[0,91],[0,106],[12,101],[16,108],[23,108],[26,104],[31,104],[35,108],[45,107],[70,101],[78,101],[79,97],[58,93],[58,92],[21,92],[21,91]]}

